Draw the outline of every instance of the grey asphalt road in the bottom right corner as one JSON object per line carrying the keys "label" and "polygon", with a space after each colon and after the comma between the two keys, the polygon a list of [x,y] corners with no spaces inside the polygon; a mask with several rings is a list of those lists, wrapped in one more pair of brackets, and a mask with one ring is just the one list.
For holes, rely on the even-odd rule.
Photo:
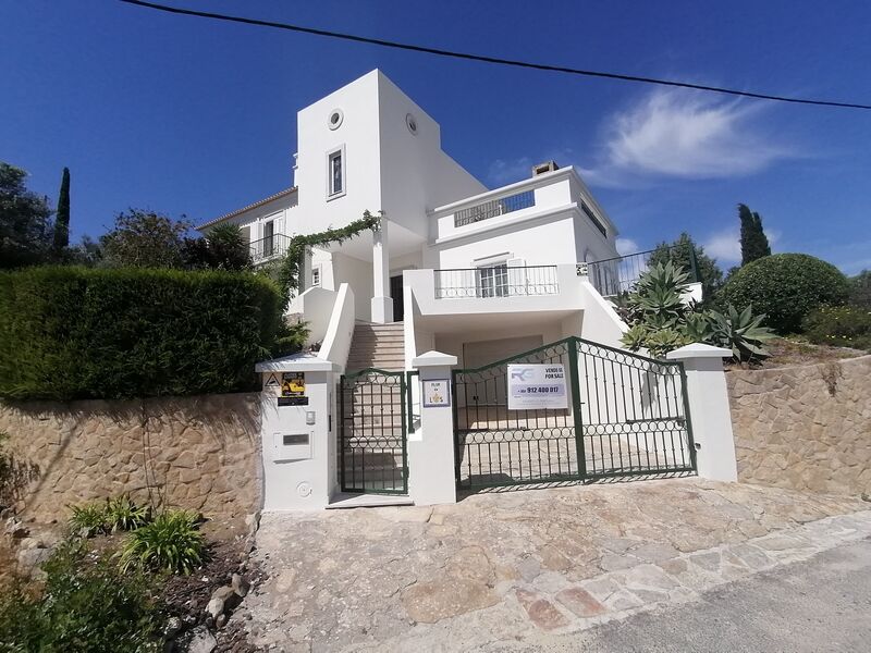
{"label": "grey asphalt road in the bottom right corner", "polygon": [[712,590],[690,603],[504,650],[871,652],[871,540]]}

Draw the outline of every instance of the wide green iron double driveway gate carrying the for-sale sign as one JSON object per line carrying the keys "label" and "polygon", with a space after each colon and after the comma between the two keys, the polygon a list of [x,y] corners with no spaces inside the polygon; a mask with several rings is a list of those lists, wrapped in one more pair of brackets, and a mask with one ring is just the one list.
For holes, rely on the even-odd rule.
{"label": "wide green iron double driveway gate carrying the for-sale sign", "polygon": [[[508,410],[507,366],[562,364],[568,408]],[[453,371],[457,488],[694,473],[683,364],[568,337]]]}

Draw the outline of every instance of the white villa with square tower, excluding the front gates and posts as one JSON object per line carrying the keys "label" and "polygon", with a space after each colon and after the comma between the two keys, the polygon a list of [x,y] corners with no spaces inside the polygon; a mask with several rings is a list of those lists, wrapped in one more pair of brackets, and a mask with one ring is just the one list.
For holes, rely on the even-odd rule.
{"label": "white villa with square tower, excluding the front gates and posts", "polygon": [[[375,238],[315,249],[302,289],[335,293],[347,283],[359,323],[405,322],[407,361],[438,349],[468,367],[566,335],[617,344],[619,321],[577,274],[578,262],[618,256],[617,229],[575,169],[547,162],[490,190],[441,149],[439,124],[377,70],[299,111],[297,143],[291,188],[199,229],[241,225],[259,262],[283,256],[293,234],[381,211]],[[326,324],[312,310],[326,299],[290,307],[315,342]]]}

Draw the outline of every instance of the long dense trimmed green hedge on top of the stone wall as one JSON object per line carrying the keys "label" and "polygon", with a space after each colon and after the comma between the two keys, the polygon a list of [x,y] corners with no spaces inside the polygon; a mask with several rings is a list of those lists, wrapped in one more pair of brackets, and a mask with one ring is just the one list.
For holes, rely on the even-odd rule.
{"label": "long dense trimmed green hedge on top of the stone wall", "polygon": [[223,271],[0,273],[0,396],[122,398],[250,390],[282,301]]}

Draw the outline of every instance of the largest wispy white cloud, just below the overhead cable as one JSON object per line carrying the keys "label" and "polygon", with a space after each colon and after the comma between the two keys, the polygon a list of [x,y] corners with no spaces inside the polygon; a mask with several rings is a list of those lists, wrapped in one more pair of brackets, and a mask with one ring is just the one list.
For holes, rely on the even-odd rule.
{"label": "largest wispy white cloud, just below the overhead cable", "polygon": [[625,185],[650,177],[714,178],[759,172],[796,152],[763,133],[759,103],[655,90],[605,126],[592,183]]}

